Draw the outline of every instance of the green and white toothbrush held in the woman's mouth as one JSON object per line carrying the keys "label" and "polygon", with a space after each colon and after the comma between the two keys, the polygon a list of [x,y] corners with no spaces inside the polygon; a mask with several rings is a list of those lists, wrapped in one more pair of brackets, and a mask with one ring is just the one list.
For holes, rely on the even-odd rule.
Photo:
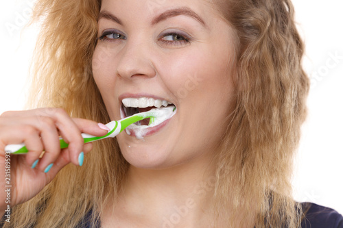
{"label": "green and white toothbrush held in the woman's mouth", "polygon": [[[172,112],[174,112],[175,110],[176,109],[174,108]],[[167,112],[167,110],[163,110],[163,109],[161,110],[154,109],[147,112],[140,112],[126,118],[122,118],[119,121],[111,121],[110,123],[106,124],[106,126],[110,129],[110,131],[108,131],[108,134],[106,134],[105,136],[97,137],[97,136],[92,136],[86,133],[82,133],[81,135],[82,135],[82,138],[84,138],[84,143],[101,140],[103,138],[114,138],[119,133],[121,133],[121,131],[126,129],[126,127],[128,127],[129,125],[132,125],[132,123],[136,123],[137,121],[141,121],[145,118],[150,118],[150,122],[149,122],[149,125],[150,125],[156,120],[156,117],[158,116],[158,114],[161,114],[161,112],[163,111]],[[64,149],[67,147],[68,147],[67,142],[64,142],[64,140],[60,137],[60,148]],[[13,153],[13,154],[25,154],[28,152],[25,147],[25,144],[23,143],[9,144],[5,147],[5,151]]]}

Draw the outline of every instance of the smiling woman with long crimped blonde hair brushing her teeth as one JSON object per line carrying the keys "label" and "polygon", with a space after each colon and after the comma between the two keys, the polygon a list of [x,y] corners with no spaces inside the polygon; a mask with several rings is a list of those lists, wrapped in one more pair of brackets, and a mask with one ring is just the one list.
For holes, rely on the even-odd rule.
{"label": "smiling woman with long crimped blonde hair brushing her teeth", "polygon": [[[292,3],[61,0],[35,12],[31,100],[42,108],[0,118],[2,167],[6,144],[29,149],[11,157],[4,227],[342,226],[292,200],[309,88]],[[82,144],[81,132],[102,136],[147,99],[176,114]]]}

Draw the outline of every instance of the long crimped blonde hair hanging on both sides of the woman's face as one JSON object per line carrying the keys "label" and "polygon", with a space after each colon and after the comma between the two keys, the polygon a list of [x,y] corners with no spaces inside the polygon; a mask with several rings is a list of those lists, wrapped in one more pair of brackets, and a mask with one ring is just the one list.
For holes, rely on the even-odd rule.
{"label": "long crimped blonde hair hanging on both sides of the woman's face", "polygon": [[[217,214],[233,208],[228,227],[238,216],[251,218],[251,212],[257,212],[256,227],[299,227],[301,210],[292,199],[290,177],[309,79],[301,66],[304,47],[293,5],[213,1],[237,36],[235,109],[215,160]],[[30,99],[37,102],[31,107],[62,107],[71,116],[110,121],[91,69],[100,5],[100,0],[37,1],[34,20],[42,30]],[[95,225],[106,199],[117,197],[128,162],[115,139],[93,148],[84,166],[66,166],[40,194],[14,207],[5,227],[76,227],[90,211]],[[244,226],[244,219],[238,225]]]}

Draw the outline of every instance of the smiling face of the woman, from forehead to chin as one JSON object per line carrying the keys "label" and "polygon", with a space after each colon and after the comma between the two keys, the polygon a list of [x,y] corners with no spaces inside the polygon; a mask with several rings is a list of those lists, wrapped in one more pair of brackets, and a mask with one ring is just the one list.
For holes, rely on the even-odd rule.
{"label": "smiling face of the woman, from forehead to chin", "polygon": [[110,118],[144,99],[176,106],[143,135],[117,136],[126,160],[166,168],[215,153],[233,105],[233,29],[205,0],[103,0],[99,15],[93,75]]}

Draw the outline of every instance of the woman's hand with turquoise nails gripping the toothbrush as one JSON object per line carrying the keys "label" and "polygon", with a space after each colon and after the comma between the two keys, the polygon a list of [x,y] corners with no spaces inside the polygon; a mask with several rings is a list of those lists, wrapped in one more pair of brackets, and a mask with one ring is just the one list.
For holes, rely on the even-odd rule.
{"label": "woman's hand with turquoise nails gripping the toothbrush", "polygon": [[[81,118],[71,118],[58,108],[4,112],[0,116],[0,208],[5,209],[8,184],[5,180],[5,146],[25,143],[26,155],[10,156],[10,205],[24,203],[42,190],[70,162],[80,166],[80,153],[88,153],[92,144],[84,144],[81,133],[104,136],[106,126]],[[60,149],[59,137],[69,144]],[[45,151],[43,157],[39,158]],[[79,161],[80,156],[80,161]],[[8,160],[8,158],[7,158]],[[35,161],[36,166],[32,168]],[[50,167],[50,168],[49,168]]]}

